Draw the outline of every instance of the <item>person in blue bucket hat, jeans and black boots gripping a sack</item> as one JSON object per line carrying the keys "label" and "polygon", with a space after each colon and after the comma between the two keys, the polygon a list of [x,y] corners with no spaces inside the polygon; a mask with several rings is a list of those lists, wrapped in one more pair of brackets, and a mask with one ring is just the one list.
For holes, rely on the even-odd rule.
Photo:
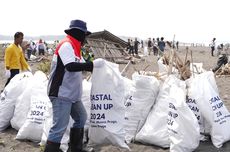
{"label": "person in blue bucket hat, jeans and black boots gripping a sack", "polygon": [[66,131],[70,116],[74,123],[70,130],[71,152],[82,152],[83,132],[87,119],[81,102],[82,71],[91,71],[104,64],[103,59],[84,62],[81,46],[90,34],[86,22],[72,20],[65,30],[67,34],[57,46],[51,63],[48,96],[53,106],[53,125],[49,131],[45,152],[58,152],[61,139]]}

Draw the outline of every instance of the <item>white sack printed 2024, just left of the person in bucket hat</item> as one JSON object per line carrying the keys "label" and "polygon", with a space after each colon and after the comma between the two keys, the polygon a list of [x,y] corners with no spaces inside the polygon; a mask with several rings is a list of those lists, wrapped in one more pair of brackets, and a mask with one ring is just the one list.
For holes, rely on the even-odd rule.
{"label": "white sack printed 2024, just left of the person in bucket hat", "polygon": [[50,102],[47,96],[48,79],[42,71],[35,72],[34,79],[36,81],[31,90],[30,110],[25,123],[17,133],[16,139],[40,141],[42,137],[45,115],[48,112],[47,104]]}

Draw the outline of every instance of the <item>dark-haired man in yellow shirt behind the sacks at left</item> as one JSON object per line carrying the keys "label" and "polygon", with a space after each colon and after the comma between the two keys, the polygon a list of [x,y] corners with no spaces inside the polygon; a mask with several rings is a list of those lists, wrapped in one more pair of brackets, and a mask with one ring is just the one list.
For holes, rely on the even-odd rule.
{"label": "dark-haired man in yellow shirt behind the sacks at left", "polygon": [[25,60],[23,55],[23,51],[21,48],[21,44],[23,41],[24,34],[22,32],[16,32],[14,34],[14,43],[10,44],[5,50],[5,68],[10,71],[10,76],[5,84],[10,82],[10,80],[17,74],[19,74],[20,70],[31,71],[28,63]]}

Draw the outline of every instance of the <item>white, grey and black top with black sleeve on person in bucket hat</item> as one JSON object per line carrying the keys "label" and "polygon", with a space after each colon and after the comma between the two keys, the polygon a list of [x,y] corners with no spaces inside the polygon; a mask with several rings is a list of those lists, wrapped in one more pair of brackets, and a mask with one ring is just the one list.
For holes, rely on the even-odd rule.
{"label": "white, grey and black top with black sleeve on person in bucket hat", "polygon": [[[80,53],[80,43],[76,48]],[[81,54],[79,54],[81,55]],[[51,62],[51,73],[48,83],[48,95],[71,102],[81,101],[82,71],[92,71],[93,63],[82,63],[70,42],[57,47]]]}

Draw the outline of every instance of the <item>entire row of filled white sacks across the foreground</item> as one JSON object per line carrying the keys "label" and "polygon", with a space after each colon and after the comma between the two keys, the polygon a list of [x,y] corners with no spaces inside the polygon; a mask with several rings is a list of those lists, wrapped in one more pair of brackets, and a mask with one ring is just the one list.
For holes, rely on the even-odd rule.
{"label": "entire row of filled white sacks across the foreground", "polygon": [[[160,67],[164,65],[159,63]],[[15,76],[1,94],[0,131],[11,124],[18,130],[16,139],[44,145],[52,124],[46,88],[47,77],[41,71]],[[230,114],[212,72],[186,81],[176,74],[158,80],[134,73],[130,80],[121,76],[117,64],[105,61],[93,70],[90,82],[83,80],[82,102],[92,146],[112,144],[129,149],[127,143],[139,141],[170,147],[172,152],[190,152],[204,140],[201,133],[209,134],[217,148],[230,140]],[[63,151],[68,149],[72,123],[71,119],[62,139]]]}

